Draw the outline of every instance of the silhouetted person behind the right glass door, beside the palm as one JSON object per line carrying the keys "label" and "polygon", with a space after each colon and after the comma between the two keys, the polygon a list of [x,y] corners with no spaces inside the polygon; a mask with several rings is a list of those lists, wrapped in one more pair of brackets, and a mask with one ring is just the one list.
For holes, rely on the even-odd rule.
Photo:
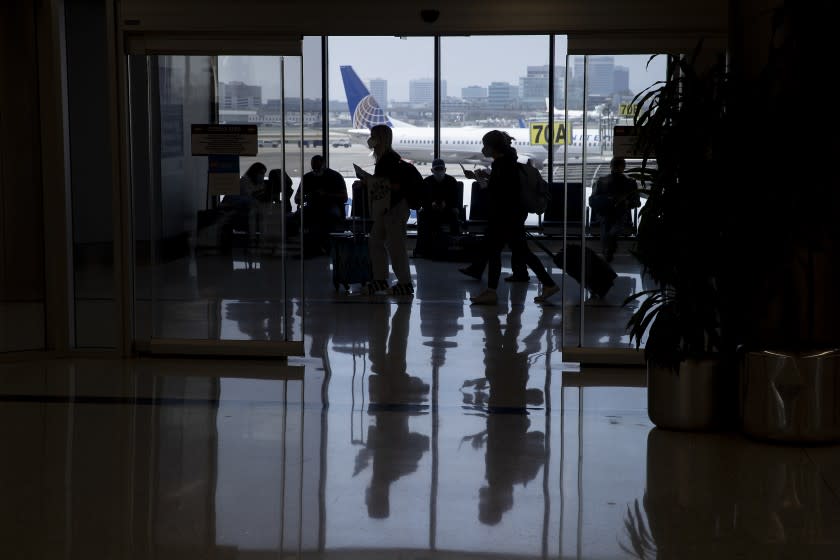
{"label": "silhouetted person behind the right glass door, beside the palm", "polygon": [[589,206],[601,219],[601,245],[604,258],[611,262],[618,236],[632,225],[631,208],[641,206],[636,181],[624,174],[626,162],[616,156],[610,160],[610,174],[598,179],[589,197]]}

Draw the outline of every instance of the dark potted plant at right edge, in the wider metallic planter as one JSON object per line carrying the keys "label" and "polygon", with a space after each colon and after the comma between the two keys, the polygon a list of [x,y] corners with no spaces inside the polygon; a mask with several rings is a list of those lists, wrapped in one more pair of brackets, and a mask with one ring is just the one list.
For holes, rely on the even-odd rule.
{"label": "dark potted plant at right edge, in the wider metallic planter", "polygon": [[779,121],[768,118],[816,102],[829,11],[784,1],[769,12],[768,47],[743,64],[734,99],[752,141],[742,146],[749,165],[731,170],[741,188],[730,198],[724,307],[743,349],[742,430],[775,441],[840,440],[840,176],[819,165],[838,137],[803,123],[807,136],[780,150]]}

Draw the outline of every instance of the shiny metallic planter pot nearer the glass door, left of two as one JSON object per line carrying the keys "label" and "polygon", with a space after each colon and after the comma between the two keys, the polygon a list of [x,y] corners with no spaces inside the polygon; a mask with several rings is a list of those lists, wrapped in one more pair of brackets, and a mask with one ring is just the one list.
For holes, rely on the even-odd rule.
{"label": "shiny metallic planter pot nearer the glass door, left of two", "polygon": [[684,360],[677,370],[648,362],[648,417],[668,430],[722,430],[735,426],[737,376],[717,358]]}

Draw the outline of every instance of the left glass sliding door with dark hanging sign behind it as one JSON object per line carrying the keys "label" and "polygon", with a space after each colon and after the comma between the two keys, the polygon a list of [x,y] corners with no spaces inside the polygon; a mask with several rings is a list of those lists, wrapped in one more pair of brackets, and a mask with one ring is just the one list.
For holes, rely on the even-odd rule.
{"label": "left glass sliding door with dark hanging sign behind it", "polygon": [[287,119],[300,118],[301,78],[300,56],[129,56],[140,349],[302,354],[290,192],[304,167]]}

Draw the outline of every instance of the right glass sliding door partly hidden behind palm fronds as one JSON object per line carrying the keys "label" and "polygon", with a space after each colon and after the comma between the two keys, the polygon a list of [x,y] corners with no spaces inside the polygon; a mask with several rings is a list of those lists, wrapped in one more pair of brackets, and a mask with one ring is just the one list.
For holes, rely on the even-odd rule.
{"label": "right glass sliding door partly hidden behind palm fronds", "polygon": [[[567,55],[566,115],[570,123],[564,172],[555,174],[565,183],[567,270],[564,274],[564,359],[627,363],[638,361],[626,332],[627,320],[641,302],[624,305],[625,299],[647,287],[641,265],[632,249],[639,221],[639,204],[619,211],[599,212],[590,204],[599,180],[611,173],[610,162],[625,157],[625,175],[633,176],[641,160],[615,143],[616,130],[633,124],[636,94],[665,77],[665,56],[650,55]],[[617,127],[619,127],[617,129]],[[558,160],[558,169],[563,160]],[[652,163],[651,163],[652,164]],[[641,185],[638,185],[641,187]],[[577,250],[583,247],[584,250]],[[612,269],[615,278],[605,280],[605,272],[584,261],[589,251]],[[576,262],[569,262],[573,259]],[[577,277],[577,278],[576,278]],[[594,356],[594,358],[593,358]]]}

